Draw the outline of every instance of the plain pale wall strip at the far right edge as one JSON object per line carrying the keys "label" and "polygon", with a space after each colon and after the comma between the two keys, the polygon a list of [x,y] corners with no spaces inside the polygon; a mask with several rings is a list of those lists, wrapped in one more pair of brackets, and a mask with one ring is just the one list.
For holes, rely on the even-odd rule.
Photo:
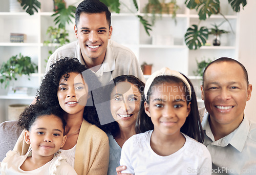
{"label": "plain pale wall strip at the far right edge", "polygon": [[245,66],[252,84],[252,96],[247,102],[245,114],[256,121],[256,1],[247,0],[240,13],[239,61]]}

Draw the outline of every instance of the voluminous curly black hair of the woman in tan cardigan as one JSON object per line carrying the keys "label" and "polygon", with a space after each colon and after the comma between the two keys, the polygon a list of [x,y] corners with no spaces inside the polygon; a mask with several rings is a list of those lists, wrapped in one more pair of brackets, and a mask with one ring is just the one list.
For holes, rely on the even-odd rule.
{"label": "voluminous curly black hair of the woman in tan cardigan", "polygon": [[82,65],[76,58],[65,57],[52,64],[51,68],[52,69],[45,75],[39,89],[37,90],[37,103],[44,106],[60,107],[57,92],[61,77],[64,76],[67,81],[71,72],[82,74],[84,81],[88,85],[89,92],[91,93],[91,97],[88,99],[87,104],[84,107],[83,118],[88,122],[99,126],[100,124],[93,102],[92,92],[95,87],[101,86],[96,75],[90,69]]}

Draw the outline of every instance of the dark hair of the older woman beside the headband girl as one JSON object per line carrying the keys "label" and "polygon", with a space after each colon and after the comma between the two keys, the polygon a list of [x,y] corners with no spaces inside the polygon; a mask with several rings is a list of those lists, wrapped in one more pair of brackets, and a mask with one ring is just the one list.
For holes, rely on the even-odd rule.
{"label": "dark hair of the older woman beside the headband girl", "polygon": [[[112,114],[110,111],[110,99],[111,99],[110,96],[115,86],[119,82],[130,82],[136,85],[141,95],[144,92],[144,86],[145,86],[145,83],[143,83],[140,79],[138,79],[134,75],[121,75],[114,78],[113,81],[114,83],[110,84],[109,86],[106,86],[106,90],[104,91],[108,96],[108,105],[109,105],[108,107],[109,111],[106,111],[106,115],[111,117],[112,117]],[[101,129],[104,130],[105,133],[111,134],[113,137],[116,137],[120,133],[119,125],[116,121],[101,126]]]}

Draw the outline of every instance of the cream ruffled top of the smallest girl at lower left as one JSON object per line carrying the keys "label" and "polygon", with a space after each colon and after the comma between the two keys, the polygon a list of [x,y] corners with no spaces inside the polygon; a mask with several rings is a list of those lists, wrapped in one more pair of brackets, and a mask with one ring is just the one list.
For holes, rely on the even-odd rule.
{"label": "cream ruffled top of the smallest girl at lower left", "polygon": [[20,166],[24,163],[28,156],[31,156],[31,151],[25,156],[20,156],[13,151],[8,151],[3,162],[0,164],[0,174],[2,175],[18,175],[18,174],[31,174],[31,175],[48,175],[48,174],[62,174],[70,175],[77,174],[62,156],[54,156],[53,159],[45,165],[34,169],[32,171],[24,171]]}

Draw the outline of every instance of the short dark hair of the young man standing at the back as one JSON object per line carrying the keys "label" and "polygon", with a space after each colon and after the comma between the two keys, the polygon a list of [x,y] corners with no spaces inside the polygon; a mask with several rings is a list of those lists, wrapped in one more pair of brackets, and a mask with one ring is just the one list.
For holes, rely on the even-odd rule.
{"label": "short dark hair of the young man standing at the back", "polygon": [[104,12],[106,15],[106,20],[109,23],[109,27],[111,26],[111,12],[109,11],[108,6],[106,6],[104,3],[100,2],[99,0],[84,0],[82,1],[76,8],[75,13],[75,22],[76,27],[79,23],[80,15],[81,13],[102,13]]}

